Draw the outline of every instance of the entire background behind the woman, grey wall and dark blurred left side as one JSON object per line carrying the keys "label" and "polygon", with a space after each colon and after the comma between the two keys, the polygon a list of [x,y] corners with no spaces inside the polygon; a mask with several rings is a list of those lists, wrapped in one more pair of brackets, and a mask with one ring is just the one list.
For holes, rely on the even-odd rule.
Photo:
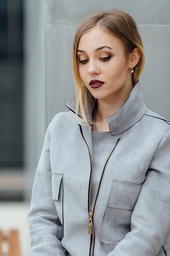
{"label": "entire background behind the woman, grey wall and dark blurred left side", "polygon": [[170,120],[170,0],[0,0],[0,230],[19,230],[22,256],[30,255],[27,214],[45,131],[75,93],[74,33],[86,15],[114,7],[142,35],[147,108]]}

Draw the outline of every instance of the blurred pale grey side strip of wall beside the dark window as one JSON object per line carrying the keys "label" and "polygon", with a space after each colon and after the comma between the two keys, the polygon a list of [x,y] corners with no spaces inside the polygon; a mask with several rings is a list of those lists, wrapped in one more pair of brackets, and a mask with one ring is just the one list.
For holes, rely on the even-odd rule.
{"label": "blurred pale grey side strip of wall beside the dark window", "polygon": [[[43,2],[43,4],[42,4]],[[24,158],[25,199],[30,201],[37,163],[42,150],[47,121],[45,85],[45,25],[47,3],[25,0],[25,86],[24,86]]]}

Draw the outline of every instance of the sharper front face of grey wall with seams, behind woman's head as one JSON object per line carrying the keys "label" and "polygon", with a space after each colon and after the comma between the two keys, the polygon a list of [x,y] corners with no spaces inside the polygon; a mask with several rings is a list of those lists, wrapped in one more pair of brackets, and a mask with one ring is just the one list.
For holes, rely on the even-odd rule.
{"label": "sharper front face of grey wall with seams, behind woman's head", "polygon": [[73,96],[71,47],[74,32],[86,15],[120,8],[136,20],[146,63],[139,79],[147,108],[170,119],[170,1],[48,0],[46,26],[46,86],[48,122]]}

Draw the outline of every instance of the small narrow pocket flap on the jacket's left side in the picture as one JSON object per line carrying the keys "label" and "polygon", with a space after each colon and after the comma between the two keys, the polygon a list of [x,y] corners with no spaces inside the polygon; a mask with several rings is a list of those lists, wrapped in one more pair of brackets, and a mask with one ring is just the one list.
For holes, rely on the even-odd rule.
{"label": "small narrow pocket flap on the jacket's left side in the picture", "polygon": [[62,181],[63,174],[52,172],[51,173],[51,187],[52,187],[52,198],[54,200],[59,199],[59,188]]}

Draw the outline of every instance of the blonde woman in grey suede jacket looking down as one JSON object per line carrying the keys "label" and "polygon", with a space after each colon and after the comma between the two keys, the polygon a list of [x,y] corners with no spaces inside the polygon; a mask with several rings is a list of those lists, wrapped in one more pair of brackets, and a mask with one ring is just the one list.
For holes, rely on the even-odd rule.
{"label": "blonde woman in grey suede jacket looking down", "polygon": [[31,256],[170,256],[170,122],[144,103],[143,67],[127,13],[77,29],[76,95],[48,126],[35,175]]}

